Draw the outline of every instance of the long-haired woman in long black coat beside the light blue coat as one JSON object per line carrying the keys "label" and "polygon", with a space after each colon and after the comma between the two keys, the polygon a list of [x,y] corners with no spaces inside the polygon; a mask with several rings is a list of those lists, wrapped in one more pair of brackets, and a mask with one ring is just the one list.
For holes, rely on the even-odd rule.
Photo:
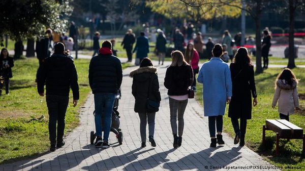
{"label": "long-haired woman in long black coat beside the light blue coat", "polygon": [[[245,145],[247,119],[251,119],[252,99],[253,106],[257,105],[257,94],[254,80],[254,68],[246,48],[237,50],[234,62],[230,65],[232,78],[232,99],[229,105],[229,117],[235,131],[234,144],[240,139],[240,146]],[[240,127],[238,119],[240,118]]]}

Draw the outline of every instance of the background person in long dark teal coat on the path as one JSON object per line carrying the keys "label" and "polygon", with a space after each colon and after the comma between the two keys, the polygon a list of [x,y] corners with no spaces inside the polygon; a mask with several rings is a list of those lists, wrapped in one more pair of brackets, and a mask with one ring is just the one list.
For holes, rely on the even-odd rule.
{"label": "background person in long dark teal coat on the path", "polygon": [[145,36],[144,32],[140,32],[140,36],[137,37],[136,46],[133,53],[136,54],[136,65],[140,65],[141,61],[148,56],[149,53],[149,42],[148,37]]}

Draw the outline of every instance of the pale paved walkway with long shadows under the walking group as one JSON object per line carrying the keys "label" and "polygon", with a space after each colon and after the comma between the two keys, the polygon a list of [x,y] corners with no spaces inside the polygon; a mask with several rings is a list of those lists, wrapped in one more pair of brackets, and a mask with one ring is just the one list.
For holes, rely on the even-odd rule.
{"label": "pale paved walkway with long shadows under the walking group", "polygon": [[202,116],[203,108],[194,99],[189,99],[185,112],[182,146],[173,149],[167,89],[163,86],[169,64],[165,62],[165,65],[157,66],[162,97],[160,111],[156,114],[157,147],[151,147],[147,141],[147,146],[140,148],[139,117],[134,112],[132,78],[129,77],[130,71],[136,67],[130,67],[123,71],[122,97],[118,106],[124,134],[122,145],[118,144],[113,133],[109,136],[110,148],[90,145],[90,131],[95,130],[95,124],[94,99],[93,94],[89,94],[81,107],[80,126],[65,137],[63,148],[0,165],[0,170],[267,170],[273,166],[248,147],[234,145],[233,139],[225,133],[224,146],[209,148],[208,120]]}

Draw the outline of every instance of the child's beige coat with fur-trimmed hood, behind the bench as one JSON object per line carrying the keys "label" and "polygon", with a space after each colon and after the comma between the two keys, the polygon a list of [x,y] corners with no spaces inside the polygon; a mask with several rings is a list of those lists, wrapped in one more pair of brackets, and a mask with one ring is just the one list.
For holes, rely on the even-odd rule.
{"label": "child's beige coat with fur-trimmed hood, behind the bench", "polygon": [[278,110],[280,113],[284,115],[294,113],[294,108],[299,107],[296,80],[292,80],[292,85],[288,84],[285,79],[277,80],[272,106],[276,106],[278,101]]}

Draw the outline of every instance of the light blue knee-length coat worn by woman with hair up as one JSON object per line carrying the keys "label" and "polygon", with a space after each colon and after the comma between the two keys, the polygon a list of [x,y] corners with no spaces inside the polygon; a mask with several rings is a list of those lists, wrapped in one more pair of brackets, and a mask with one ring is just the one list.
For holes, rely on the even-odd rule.
{"label": "light blue knee-length coat worn by woman with hair up", "polygon": [[229,65],[213,57],[202,65],[197,80],[203,84],[204,116],[224,115],[227,97],[232,96]]}

